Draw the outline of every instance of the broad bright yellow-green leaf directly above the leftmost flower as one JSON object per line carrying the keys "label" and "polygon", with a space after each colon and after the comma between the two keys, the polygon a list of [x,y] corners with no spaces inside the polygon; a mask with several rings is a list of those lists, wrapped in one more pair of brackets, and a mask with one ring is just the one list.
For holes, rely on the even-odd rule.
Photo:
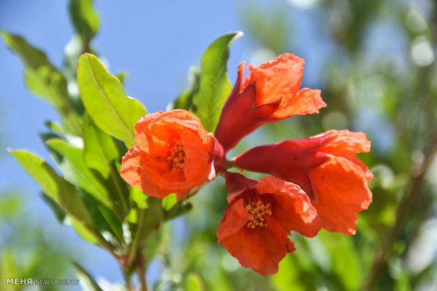
{"label": "broad bright yellow-green leaf directly above the leftmost flower", "polygon": [[135,123],[147,113],[140,101],[126,96],[120,81],[90,53],[79,58],[78,84],[82,102],[97,127],[128,148],[134,145]]}

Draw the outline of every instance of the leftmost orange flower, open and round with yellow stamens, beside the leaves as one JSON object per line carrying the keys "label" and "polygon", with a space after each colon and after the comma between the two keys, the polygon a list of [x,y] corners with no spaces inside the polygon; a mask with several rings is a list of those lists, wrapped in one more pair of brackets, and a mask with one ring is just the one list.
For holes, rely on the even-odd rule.
{"label": "leftmost orange flower, open and round with yellow stamens, beside the leaves", "polygon": [[181,198],[214,180],[214,159],[223,164],[223,150],[213,134],[186,110],[145,115],[135,125],[135,141],[123,157],[121,176],[156,198],[170,193]]}

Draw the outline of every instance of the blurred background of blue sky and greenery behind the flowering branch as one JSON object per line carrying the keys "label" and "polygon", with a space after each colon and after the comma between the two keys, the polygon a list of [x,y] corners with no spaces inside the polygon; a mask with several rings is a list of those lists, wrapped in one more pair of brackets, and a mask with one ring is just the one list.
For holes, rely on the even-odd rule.
{"label": "blurred background of blue sky and greenery behind the flowering branch", "polygon": [[[321,89],[328,107],[255,131],[235,155],[328,129],[363,131],[372,143],[359,157],[375,175],[374,202],[359,214],[357,235],[293,233],[297,250],[278,274],[258,276],[216,245],[226,208],[216,179],[187,216],[164,227],[147,271],[150,287],[437,290],[437,1],[94,0],[94,8],[100,25],[92,47],[112,73],[128,72],[125,91],[149,112],[165,110],[188,88],[192,65],[226,32],[245,32],[230,48],[231,82],[243,60],[259,65],[285,51],[304,58],[302,86]],[[21,34],[59,68],[75,33],[67,0],[1,0],[0,28]],[[61,226],[6,151],[26,148],[50,160],[38,133],[58,119],[27,91],[23,63],[1,42],[0,290],[6,277],[74,278],[71,259],[104,290],[122,290],[113,258]]]}

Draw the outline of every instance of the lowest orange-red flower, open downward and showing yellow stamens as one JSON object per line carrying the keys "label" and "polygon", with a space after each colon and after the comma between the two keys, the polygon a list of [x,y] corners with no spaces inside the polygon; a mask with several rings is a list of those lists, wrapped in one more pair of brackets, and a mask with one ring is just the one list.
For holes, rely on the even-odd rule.
{"label": "lowest orange-red flower, open downward and showing yellow stamens", "polygon": [[226,172],[229,206],[217,229],[218,244],[262,276],[278,272],[278,264],[295,246],[288,235],[313,237],[320,230],[316,209],[304,191],[275,177],[259,182]]}

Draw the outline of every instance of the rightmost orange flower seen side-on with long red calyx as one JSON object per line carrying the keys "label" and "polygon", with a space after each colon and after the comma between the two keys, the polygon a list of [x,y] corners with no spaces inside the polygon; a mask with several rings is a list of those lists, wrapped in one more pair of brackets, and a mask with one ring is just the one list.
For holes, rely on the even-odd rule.
{"label": "rightmost orange flower seen side-on with long red calyx", "polygon": [[331,130],[309,138],[252,148],[235,158],[237,167],[297,183],[309,195],[322,227],[355,234],[358,212],[371,203],[373,175],[355,153],[370,151],[362,132]]}

